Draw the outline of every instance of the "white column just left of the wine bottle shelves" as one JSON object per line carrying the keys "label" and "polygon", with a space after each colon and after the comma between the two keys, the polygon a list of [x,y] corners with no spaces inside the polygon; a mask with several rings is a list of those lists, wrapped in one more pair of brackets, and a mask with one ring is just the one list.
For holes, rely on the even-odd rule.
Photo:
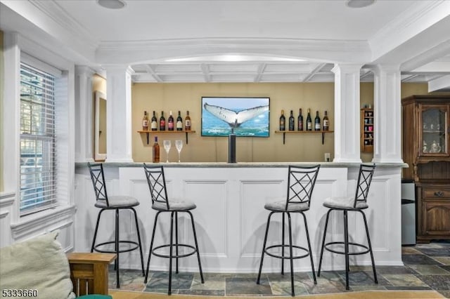
{"label": "white column just left of the wine bottle shelves", "polygon": [[106,66],[106,161],[133,162],[129,66]]}

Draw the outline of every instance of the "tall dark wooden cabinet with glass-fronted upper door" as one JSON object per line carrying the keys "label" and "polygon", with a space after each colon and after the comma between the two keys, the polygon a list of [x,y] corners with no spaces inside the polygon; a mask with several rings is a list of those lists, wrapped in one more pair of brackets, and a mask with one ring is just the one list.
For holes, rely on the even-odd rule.
{"label": "tall dark wooden cabinet with glass-fronted upper door", "polygon": [[417,241],[450,239],[450,95],[401,100],[403,178],[416,182]]}

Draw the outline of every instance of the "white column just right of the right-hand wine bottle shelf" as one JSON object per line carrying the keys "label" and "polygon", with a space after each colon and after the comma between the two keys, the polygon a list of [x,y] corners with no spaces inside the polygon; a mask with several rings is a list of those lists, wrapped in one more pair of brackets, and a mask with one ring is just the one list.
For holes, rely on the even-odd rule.
{"label": "white column just right of the right-hand wine bottle shelf", "polygon": [[336,64],[335,158],[333,162],[361,163],[359,146],[359,70],[361,65]]}

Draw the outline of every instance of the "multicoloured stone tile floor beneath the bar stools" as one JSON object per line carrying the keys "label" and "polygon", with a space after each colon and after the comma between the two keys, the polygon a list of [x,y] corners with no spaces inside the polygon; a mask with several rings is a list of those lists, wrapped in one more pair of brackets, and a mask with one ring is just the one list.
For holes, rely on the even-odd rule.
{"label": "multicoloured stone tile floor beneath the bar stools", "polygon": [[[343,257],[342,257],[343,258]],[[370,266],[350,267],[350,292],[366,290],[435,290],[450,298],[450,241],[434,241],[402,248],[404,266],[377,266],[378,284],[373,282]],[[375,260],[376,263],[376,260]],[[286,269],[289,271],[288,269]],[[172,293],[190,295],[290,295],[290,274],[257,274],[180,272],[172,274]],[[167,293],[168,272],[150,272],[143,283],[140,270],[123,270],[120,289]],[[110,268],[110,288],[115,288],[115,271]],[[311,272],[295,273],[295,295],[342,293],[345,291],[345,271],[321,272],[314,285]]]}

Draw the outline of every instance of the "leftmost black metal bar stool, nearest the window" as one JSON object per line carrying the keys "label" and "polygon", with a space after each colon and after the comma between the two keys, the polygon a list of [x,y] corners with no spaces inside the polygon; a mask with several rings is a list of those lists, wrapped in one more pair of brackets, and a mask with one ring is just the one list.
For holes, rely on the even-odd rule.
{"label": "leftmost black metal bar stool, nearest the window", "polygon": [[[92,240],[91,245],[91,252],[97,251],[101,253],[116,253],[117,258],[114,262],[114,267],[116,270],[116,278],[117,288],[120,288],[120,279],[119,279],[119,253],[134,251],[139,248],[139,253],[141,253],[141,267],[142,267],[142,276],[144,275],[143,270],[143,253],[142,253],[142,246],[141,246],[141,234],[139,234],[139,224],[138,224],[138,218],[136,215],[136,211],[134,210],[135,206],[139,206],[139,201],[135,199],[134,197],[127,197],[127,196],[111,196],[108,197],[108,193],[106,192],[106,185],[105,185],[105,175],[103,174],[103,164],[96,163],[91,164],[88,162],[87,164],[89,166],[89,172],[91,173],[91,180],[92,184],[94,185],[94,191],[96,193],[96,208],[101,208],[100,212],[98,212],[97,216],[97,223],[96,223],[96,229],[94,232],[94,239]],[[115,211],[115,239],[114,241],[106,241],[103,243],[96,244],[96,238],[97,238],[97,232],[98,232],[98,223],[100,222],[100,217],[103,211],[109,211],[114,210]],[[119,215],[121,210],[131,210],[134,213],[134,221],[136,222],[136,231],[138,234],[138,240],[137,241],[131,241],[131,240],[121,240],[119,237]],[[108,244],[115,244],[114,250],[106,250],[101,249],[101,246],[108,245]],[[120,244],[129,244],[129,248],[120,248]]]}

